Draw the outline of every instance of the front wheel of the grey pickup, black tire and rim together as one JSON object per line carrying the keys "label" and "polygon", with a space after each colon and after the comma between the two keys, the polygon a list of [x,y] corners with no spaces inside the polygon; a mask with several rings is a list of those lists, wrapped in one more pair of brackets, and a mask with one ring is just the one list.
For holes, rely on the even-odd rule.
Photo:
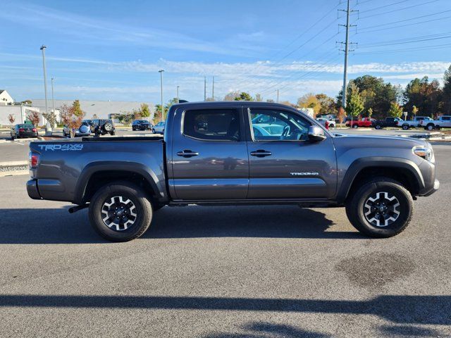
{"label": "front wheel of the grey pickup, black tire and rim together", "polygon": [[[391,201],[388,201],[390,199]],[[378,209],[380,206],[376,206],[377,201],[383,201],[387,206],[385,218],[376,214],[376,210],[381,211]],[[391,206],[388,206],[389,204]],[[400,182],[388,177],[376,177],[365,182],[346,203],[346,215],[351,224],[359,232],[375,238],[393,237],[402,232],[412,219],[412,209],[413,199],[410,192]],[[382,222],[384,224],[381,224]]]}

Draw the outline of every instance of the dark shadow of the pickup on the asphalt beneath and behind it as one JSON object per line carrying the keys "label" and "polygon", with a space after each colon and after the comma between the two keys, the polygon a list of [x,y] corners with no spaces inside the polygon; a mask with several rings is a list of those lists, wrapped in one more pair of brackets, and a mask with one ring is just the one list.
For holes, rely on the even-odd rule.
{"label": "dark shadow of the pickup on the asphalt beneath and behind it", "polygon": [[[106,243],[92,230],[86,210],[69,214],[68,208],[0,209],[0,215],[0,244]],[[365,239],[358,232],[330,231],[334,224],[326,214],[298,206],[165,207],[154,214],[142,238]]]}

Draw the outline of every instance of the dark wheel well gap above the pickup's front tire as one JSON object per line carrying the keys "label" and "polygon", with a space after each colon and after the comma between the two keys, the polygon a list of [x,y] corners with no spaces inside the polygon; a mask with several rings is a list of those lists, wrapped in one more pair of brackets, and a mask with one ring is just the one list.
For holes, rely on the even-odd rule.
{"label": "dark wheel well gap above the pickup's front tire", "polygon": [[409,190],[412,196],[419,194],[419,182],[416,180],[415,175],[407,168],[395,168],[395,167],[367,167],[359,171],[352,181],[347,198],[352,196],[354,192],[362,186],[362,182],[373,179],[374,177],[388,177],[392,180],[400,182],[404,188]]}

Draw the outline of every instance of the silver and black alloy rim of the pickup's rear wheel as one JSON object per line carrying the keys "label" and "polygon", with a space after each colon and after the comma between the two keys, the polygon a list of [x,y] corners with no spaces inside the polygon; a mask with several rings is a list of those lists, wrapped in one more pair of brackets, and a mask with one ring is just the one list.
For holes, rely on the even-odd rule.
{"label": "silver and black alloy rim of the pickup's rear wheel", "polygon": [[130,229],[137,219],[136,206],[125,196],[112,196],[101,206],[101,219],[111,230]]}

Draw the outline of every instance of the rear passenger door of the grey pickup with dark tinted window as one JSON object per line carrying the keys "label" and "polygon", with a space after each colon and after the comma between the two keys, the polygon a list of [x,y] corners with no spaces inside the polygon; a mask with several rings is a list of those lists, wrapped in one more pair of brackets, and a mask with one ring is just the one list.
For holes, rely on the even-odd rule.
{"label": "rear passenger door of the grey pickup with dark tinted window", "polygon": [[177,199],[245,199],[249,160],[240,114],[230,108],[193,112],[178,114],[183,130],[173,131],[171,184]]}

